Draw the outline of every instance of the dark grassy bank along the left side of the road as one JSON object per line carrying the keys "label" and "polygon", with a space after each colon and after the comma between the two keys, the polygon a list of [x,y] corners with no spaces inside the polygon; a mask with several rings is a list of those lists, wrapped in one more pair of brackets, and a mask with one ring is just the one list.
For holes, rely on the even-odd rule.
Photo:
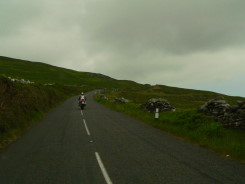
{"label": "dark grassy bank along the left side of the road", "polygon": [[81,90],[86,91],[76,86],[21,84],[0,77],[0,148],[16,140],[50,109]]}

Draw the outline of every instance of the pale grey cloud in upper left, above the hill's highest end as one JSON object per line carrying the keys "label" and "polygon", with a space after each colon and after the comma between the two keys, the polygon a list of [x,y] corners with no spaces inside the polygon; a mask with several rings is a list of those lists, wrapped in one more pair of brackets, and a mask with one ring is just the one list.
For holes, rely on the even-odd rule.
{"label": "pale grey cloud in upper left, above the hill's highest end", "polygon": [[3,0],[0,5],[0,55],[60,66],[81,52],[77,20],[83,14],[83,2]]}

